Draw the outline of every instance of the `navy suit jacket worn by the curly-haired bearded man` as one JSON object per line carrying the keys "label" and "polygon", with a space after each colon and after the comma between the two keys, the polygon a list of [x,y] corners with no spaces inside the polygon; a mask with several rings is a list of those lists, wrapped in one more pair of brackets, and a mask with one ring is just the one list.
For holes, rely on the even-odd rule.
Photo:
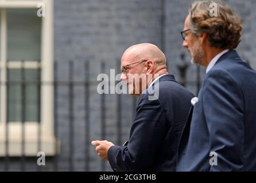
{"label": "navy suit jacket worn by the curly-haired bearded man", "polygon": [[177,170],[256,170],[256,72],[230,50],[205,75],[198,100],[181,136]]}

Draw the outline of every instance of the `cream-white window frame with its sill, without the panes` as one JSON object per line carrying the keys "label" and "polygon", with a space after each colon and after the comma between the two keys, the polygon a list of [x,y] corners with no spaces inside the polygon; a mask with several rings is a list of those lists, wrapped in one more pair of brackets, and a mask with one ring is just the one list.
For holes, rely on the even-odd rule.
{"label": "cream-white window frame with its sill, without the panes", "polygon": [[[1,9],[1,82],[6,83],[6,68],[21,68],[20,62],[7,63],[7,19],[6,9],[33,8],[39,9],[37,5],[44,3],[45,17],[42,18],[41,25],[41,62],[40,65],[25,62],[25,68],[41,68],[41,82],[51,83],[41,85],[41,112],[40,123],[24,122],[25,128],[25,156],[37,156],[38,153],[38,125],[41,125],[41,151],[46,156],[53,156],[56,153],[56,138],[54,134],[54,100],[53,100],[53,0],[34,0],[34,1],[9,1],[0,0]],[[1,85],[1,118],[0,118],[0,156],[6,156],[6,124],[7,124],[7,86]],[[22,122],[9,122],[8,124],[8,155],[22,155]],[[58,141],[59,142],[59,141]],[[59,146],[59,145],[58,145]]]}

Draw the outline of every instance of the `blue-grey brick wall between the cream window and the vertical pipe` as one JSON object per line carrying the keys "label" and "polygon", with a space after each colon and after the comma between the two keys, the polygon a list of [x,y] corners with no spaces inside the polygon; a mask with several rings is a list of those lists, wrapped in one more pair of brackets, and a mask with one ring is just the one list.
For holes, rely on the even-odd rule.
{"label": "blue-grey brick wall between the cream window and the vertical pipe", "polygon": [[[106,71],[117,68],[123,51],[135,43],[152,42],[161,45],[161,3],[154,0],[142,1],[70,1],[55,0],[55,59],[61,62],[58,79],[67,79],[69,60],[76,61],[75,78],[84,78],[83,63],[90,62],[90,81],[96,81],[101,73],[102,62]],[[118,70],[119,71],[119,70]],[[116,71],[117,73],[117,71]],[[75,144],[73,163],[75,170],[84,170],[85,123],[84,123],[84,90],[80,87],[75,92]],[[90,141],[101,139],[100,95],[96,85],[90,89]],[[68,170],[69,157],[69,122],[68,122],[67,87],[58,92],[58,130],[61,138],[60,170]],[[129,137],[130,123],[134,113],[134,102],[131,96],[122,96],[122,140]],[[106,139],[118,142],[117,137],[117,96],[106,96]],[[90,168],[102,170],[102,160],[96,155],[90,144]],[[117,144],[118,145],[118,144]],[[121,145],[121,144],[119,144]],[[106,164],[106,170],[111,170]]]}

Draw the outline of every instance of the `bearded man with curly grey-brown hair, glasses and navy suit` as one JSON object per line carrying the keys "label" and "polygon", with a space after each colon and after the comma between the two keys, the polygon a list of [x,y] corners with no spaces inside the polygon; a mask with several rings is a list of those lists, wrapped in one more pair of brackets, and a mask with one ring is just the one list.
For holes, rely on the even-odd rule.
{"label": "bearded man with curly grey-brown hair, glasses and navy suit", "polygon": [[206,74],[181,136],[178,171],[256,170],[256,72],[235,50],[242,29],[223,1],[189,8],[183,46]]}

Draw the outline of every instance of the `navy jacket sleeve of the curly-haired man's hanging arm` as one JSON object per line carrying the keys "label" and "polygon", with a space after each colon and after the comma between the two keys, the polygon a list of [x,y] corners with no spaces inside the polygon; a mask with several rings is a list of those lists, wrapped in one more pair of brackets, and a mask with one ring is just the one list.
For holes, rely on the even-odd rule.
{"label": "navy jacket sleeve of the curly-haired man's hanging arm", "polygon": [[243,170],[242,90],[224,70],[208,73],[205,83],[203,109],[210,133],[210,152],[216,152],[218,160],[210,171]]}

